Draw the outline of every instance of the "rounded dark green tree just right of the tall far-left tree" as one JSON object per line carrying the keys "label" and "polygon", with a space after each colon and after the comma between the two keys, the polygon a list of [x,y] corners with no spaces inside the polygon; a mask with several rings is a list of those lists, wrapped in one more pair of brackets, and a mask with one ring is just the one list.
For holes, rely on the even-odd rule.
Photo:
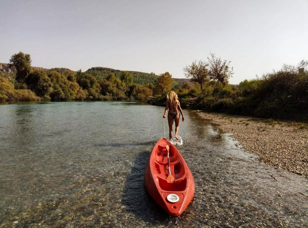
{"label": "rounded dark green tree just right of the tall far-left tree", "polygon": [[28,88],[39,97],[48,95],[51,92],[52,83],[46,72],[42,70],[32,71],[25,80]]}

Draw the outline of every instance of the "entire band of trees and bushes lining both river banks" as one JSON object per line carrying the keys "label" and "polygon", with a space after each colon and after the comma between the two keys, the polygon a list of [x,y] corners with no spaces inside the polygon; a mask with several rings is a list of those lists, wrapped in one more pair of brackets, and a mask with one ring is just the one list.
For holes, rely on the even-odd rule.
{"label": "entire band of trees and bushes lining both river banks", "polygon": [[[190,81],[178,83],[172,75],[93,67],[85,72],[67,68],[33,69],[29,54],[10,58],[15,76],[0,75],[0,101],[24,100],[125,100],[137,99],[164,105],[175,90],[182,107],[251,115],[261,118],[308,119],[308,61],[283,65],[261,78],[230,85],[231,61],[210,53],[207,61],[184,67]],[[194,84],[193,84],[194,83]]]}

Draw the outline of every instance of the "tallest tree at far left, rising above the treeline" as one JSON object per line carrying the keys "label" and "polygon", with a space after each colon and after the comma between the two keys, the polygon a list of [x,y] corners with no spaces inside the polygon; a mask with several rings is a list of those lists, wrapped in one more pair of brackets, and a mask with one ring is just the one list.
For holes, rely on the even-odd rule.
{"label": "tallest tree at far left, rising above the treeline", "polygon": [[16,68],[16,81],[23,83],[31,71],[30,54],[19,52],[11,56],[9,60],[9,67]]}

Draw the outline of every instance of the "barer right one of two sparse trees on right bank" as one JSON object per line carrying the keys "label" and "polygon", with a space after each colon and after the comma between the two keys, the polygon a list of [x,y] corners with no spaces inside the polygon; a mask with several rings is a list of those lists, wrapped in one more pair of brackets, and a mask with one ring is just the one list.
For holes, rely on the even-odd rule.
{"label": "barer right one of two sparse trees on right bank", "polygon": [[219,57],[215,57],[215,53],[210,52],[210,58],[208,57],[209,76],[213,81],[219,81],[223,85],[226,84],[228,79],[232,77],[233,67],[230,67],[231,61],[221,60]]}

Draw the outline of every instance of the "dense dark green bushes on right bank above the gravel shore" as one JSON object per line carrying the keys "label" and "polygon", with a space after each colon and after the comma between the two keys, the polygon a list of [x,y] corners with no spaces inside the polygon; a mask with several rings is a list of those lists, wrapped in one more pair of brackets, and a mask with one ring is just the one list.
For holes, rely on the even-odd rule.
{"label": "dense dark green bushes on right bank above the gravel shore", "polygon": [[196,102],[198,109],[253,115],[261,118],[302,119],[308,117],[308,73],[290,70],[244,80],[238,87],[221,82],[210,84]]}

